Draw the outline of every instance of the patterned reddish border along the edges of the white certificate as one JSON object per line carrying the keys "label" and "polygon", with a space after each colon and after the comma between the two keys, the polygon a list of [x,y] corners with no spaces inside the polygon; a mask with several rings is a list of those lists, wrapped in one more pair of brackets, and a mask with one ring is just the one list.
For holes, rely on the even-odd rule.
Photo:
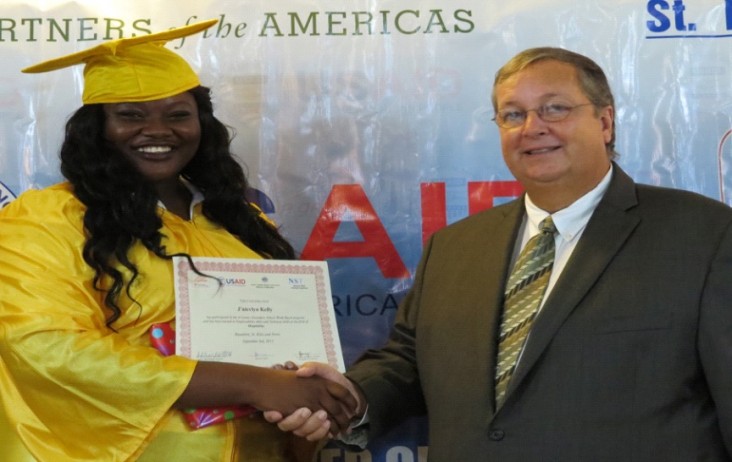
{"label": "patterned reddish border along the edges of the white certificate", "polygon": [[[201,277],[196,274],[190,262],[187,258],[179,258],[176,264],[177,277],[176,282],[179,282],[177,290],[176,303],[181,304],[180,318],[177,319],[176,324],[179,324],[178,328],[178,342],[181,354],[188,358],[191,357],[191,320],[190,320],[190,294],[188,291],[189,275],[194,274],[196,277]],[[251,261],[243,262],[241,260],[226,259],[226,258],[205,258],[205,257],[192,257],[195,267],[201,273],[206,274],[208,271],[221,271],[221,272],[247,272],[247,273],[279,273],[279,274],[311,274],[315,276],[315,286],[318,303],[318,314],[320,316],[320,329],[323,334],[323,341],[325,342],[325,354],[328,360],[328,364],[335,367],[336,369],[343,369],[342,361],[339,360],[337,354],[337,348],[335,346],[336,335],[333,333],[333,328],[337,329],[335,318],[332,319],[334,313],[330,310],[329,300],[325,297],[325,281],[328,277],[327,263],[325,262],[304,262],[304,261],[292,261],[284,263],[281,261],[272,262],[268,260],[262,261]],[[324,268],[326,271],[324,271]],[[214,276],[212,276],[214,277]]]}

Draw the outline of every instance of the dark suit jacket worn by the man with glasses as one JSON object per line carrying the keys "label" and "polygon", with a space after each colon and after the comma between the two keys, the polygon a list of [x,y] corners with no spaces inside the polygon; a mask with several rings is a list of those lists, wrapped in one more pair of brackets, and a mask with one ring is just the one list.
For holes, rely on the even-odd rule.
{"label": "dark suit jacket worn by the man with glasses", "polygon": [[430,462],[732,460],[732,211],[617,165],[496,410],[523,200],[426,246],[387,345],[348,376],[371,436],[427,412]]}

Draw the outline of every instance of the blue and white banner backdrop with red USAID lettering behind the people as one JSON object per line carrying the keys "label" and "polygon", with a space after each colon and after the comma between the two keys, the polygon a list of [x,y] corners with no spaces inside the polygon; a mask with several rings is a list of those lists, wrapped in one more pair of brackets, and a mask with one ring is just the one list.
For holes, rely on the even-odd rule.
{"label": "blue and white banner backdrop with red USAID lettering behind the people", "polygon": [[[21,68],[209,18],[168,46],[213,88],[258,202],[303,258],[328,261],[346,363],[384,341],[431,232],[520,193],[489,96],[524,48],[606,70],[619,163],[637,181],[732,195],[732,0],[3,0],[0,207],[61,179],[81,104],[80,66]],[[319,458],[424,461],[426,446],[416,418]]]}

